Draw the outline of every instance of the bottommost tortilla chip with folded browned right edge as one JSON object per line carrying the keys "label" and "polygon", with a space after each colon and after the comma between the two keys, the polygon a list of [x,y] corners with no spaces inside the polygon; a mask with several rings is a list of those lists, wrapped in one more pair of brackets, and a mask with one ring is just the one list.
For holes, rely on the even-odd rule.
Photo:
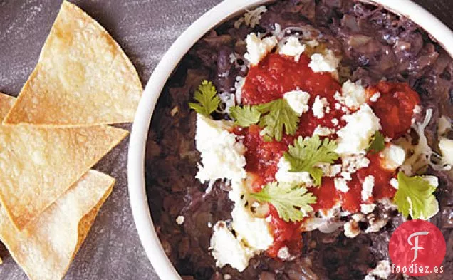
{"label": "bottommost tortilla chip with folded browned right edge", "polygon": [[22,232],[0,207],[0,239],[28,278],[63,278],[114,183],[108,175],[88,171]]}

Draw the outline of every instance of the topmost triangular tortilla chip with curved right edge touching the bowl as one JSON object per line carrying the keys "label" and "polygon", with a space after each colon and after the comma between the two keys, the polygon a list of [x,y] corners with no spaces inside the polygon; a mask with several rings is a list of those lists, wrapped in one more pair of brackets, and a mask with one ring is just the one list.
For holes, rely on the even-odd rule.
{"label": "topmost triangular tortilla chip with curved right edge touching the bowl", "polygon": [[36,68],[5,124],[88,126],[132,122],[142,84],[118,43],[63,1]]}

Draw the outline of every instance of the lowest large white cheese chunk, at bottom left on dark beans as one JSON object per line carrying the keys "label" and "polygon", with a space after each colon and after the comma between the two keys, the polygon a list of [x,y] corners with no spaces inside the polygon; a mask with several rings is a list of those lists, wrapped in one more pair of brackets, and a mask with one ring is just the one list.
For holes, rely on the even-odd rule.
{"label": "lowest large white cheese chunk, at bottom left on dark beans", "polygon": [[234,269],[244,271],[254,256],[254,252],[236,239],[223,221],[214,225],[210,249],[216,259],[216,266],[220,268],[229,264]]}

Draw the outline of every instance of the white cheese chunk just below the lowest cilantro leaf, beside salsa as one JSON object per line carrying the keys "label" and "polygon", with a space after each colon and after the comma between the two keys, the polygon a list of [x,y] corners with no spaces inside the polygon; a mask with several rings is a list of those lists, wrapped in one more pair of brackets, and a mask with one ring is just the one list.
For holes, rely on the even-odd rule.
{"label": "white cheese chunk just below the lowest cilantro leaf, beside salsa", "polygon": [[264,251],[274,243],[274,237],[266,219],[254,217],[242,204],[236,203],[231,217],[233,218],[231,227],[236,232],[237,239],[254,251]]}

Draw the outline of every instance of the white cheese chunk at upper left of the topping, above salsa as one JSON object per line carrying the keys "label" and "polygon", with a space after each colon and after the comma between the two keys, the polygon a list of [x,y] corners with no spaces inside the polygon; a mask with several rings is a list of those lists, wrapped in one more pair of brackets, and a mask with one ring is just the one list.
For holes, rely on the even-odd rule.
{"label": "white cheese chunk at upper left of the topping, above salsa", "polygon": [[249,61],[252,66],[257,65],[267,53],[275,48],[277,43],[278,41],[275,36],[261,39],[256,36],[255,33],[250,33],[246,37],[247,52],[244,54],[244,58]]}

